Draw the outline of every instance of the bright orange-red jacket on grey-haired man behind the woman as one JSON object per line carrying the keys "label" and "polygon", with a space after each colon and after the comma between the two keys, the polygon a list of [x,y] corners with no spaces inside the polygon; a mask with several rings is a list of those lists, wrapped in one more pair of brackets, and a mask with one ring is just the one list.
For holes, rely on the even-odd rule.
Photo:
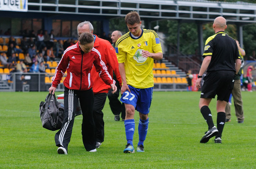
{"label": "bright orange-red jacket on grey-haired man behind the woman", "polygon": [[[119,73],[116,51],[114,50],[113,46],[109,41],[105,39],[101,39],[97,37],[97,35],[94,35],[94,36],[95,36],[94,48],[100,52],[101,60],[106,64],[107,71],[109,72],[111,77],[113,77],[113,71],[114,71],[120,86],[122,86],[122,78]],[[111,87],[102,81],[102,79],[99,77],[99,73],[96,72],[95,66],[92,67],[91,76],[92,76],[92,80],[94,81],[94,86],[92,87],[94,94],[108,93]]]}

